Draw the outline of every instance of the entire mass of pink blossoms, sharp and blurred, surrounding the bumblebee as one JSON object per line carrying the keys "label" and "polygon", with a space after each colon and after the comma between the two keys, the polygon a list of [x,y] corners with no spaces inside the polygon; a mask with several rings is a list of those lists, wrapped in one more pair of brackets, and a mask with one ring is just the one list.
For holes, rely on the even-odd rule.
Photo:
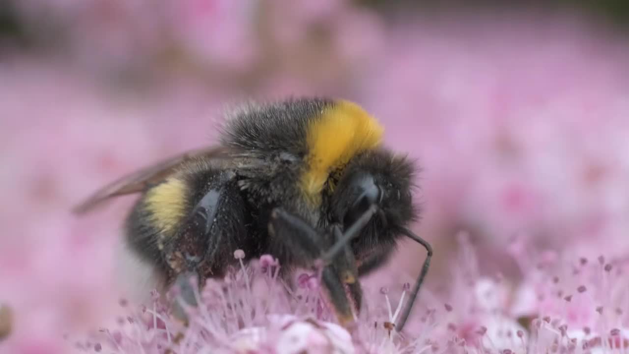
{"label": "entire mass of pink blossoms, sharp and blurred, surrounding the bumblebee", "polygon": [[[158,3],[18,3],[58,46],[0,58],[0,353],[629,350],[626,40],[569,16]],[[211,282],[187,329],[158,302],[118,304],[132,198],[84,219],[72,205],[211,144],[226,105],[290,94],[357,101],[421,166],[414,229],[435,256],[408,331],[385,324],[423,260],[410,244],[365,279],[352,331],[314,280],[299,298],[259,263]]]}

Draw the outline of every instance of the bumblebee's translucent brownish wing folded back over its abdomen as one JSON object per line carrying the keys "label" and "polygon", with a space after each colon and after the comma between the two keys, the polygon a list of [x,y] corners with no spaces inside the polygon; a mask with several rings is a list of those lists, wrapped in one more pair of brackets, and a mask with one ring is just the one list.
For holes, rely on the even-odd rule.
{"label": "bumblebee's translucent brownish wing folded back over its abdomen", "polygon": [[85,214],[94,210],[98,205],[110,200],[113,197],[138,193],[146,190],[150,186],[165,180],[170,174],[176,171],[182,163],[192,159],[228,159],[231,156],[226,147],[211,146],[184,152],[177,156],[170,157],[159,163],[152,164],[139,169],[134,173],[123,176],[117,181],[97,190],[91,197],[72,208],[75,214]]}

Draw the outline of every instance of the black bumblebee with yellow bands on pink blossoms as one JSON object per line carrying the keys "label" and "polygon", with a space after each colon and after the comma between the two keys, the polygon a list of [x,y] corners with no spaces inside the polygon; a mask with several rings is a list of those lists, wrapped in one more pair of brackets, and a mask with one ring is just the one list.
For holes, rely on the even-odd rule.
{"label": "black bumblebee with yellow bands on pink blossoms", "polygon": [[165,286],[183,275],[223,277],[233,252],[272,254],[282,269],[323,263],[321,280],[338,321],[360,311],[359,277],[379,268],[403,236],[428,255],[396,329],[428,272],[430,244],[409,231],[416,167],[382,146],[383,128],[345,100],[248,103],[227,114],[216,146],[140,169],[75,208],[141,193],[125,240]]}

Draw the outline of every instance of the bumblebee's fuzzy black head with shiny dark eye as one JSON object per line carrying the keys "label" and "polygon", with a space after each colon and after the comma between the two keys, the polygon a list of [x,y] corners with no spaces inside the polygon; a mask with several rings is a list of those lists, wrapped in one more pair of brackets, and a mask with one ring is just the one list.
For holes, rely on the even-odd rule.
{"label": "bumblebee's fuzzy black head with shiny dark eye", "polygon": [[345,229],[372,205],[377,212],[352,241],[355,251],[392,246],[400,230],[418,217],[411,190],[415,166],[406,157],[378,149],[355,156],[345,167],[330,198],[332,222]]}

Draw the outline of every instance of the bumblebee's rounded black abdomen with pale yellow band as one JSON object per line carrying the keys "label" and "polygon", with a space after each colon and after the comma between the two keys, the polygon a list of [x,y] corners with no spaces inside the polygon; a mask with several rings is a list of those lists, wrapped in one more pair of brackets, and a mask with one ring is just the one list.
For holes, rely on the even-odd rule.
{"label": "bumblebee's rounded black abdomen with pale yellow band", "polygon": [[181,271],[220,277],[233,252],[253,256],[250,213],[233,171],[191,163],[152,186],[133,207],[126,241],[138,258],[157,267],[169,283]]}

